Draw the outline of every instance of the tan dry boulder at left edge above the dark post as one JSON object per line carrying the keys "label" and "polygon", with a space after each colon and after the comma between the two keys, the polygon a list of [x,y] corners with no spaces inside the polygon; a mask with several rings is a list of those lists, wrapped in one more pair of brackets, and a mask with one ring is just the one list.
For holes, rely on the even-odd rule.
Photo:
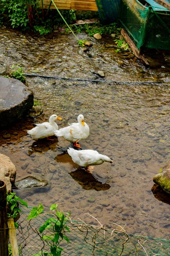
{"label": "tan dry boulder at left edge above the dark post", "polygon": [[6,183],[7,192],[11,192],[16,177],[16,169],[10,158],[0,154],[0,180]]}

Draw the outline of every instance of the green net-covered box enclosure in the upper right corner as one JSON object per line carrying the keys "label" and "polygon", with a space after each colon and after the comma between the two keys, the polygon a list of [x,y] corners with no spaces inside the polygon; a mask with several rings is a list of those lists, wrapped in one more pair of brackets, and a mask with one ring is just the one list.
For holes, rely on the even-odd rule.
{"label": "green net-covered box enclosure in the upper right corner", "polygon": [[121,0],[119,19],[138,49],[170,50],[170,10],[154,0]]}

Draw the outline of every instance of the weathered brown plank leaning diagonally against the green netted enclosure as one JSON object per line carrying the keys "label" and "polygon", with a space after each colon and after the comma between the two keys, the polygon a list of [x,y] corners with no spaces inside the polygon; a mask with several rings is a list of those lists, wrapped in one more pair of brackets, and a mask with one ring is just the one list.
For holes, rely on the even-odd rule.
{"label": "weathered brown plank leaning diagonally against the green netted enclosure", "polygon": [[125,41],[127,42],[127,44],[132,49],[134,55],[139,59],[139,61],[141,61],[143,64],[149,66],[149,63],[144,58],[144,56],[142,54],[140,54],[139,50],[136,48],[136,45],[133,43],[132,39],[129,37],[129,35],[127,34],[125,29],[121,29],[121,34],[125,38]]}

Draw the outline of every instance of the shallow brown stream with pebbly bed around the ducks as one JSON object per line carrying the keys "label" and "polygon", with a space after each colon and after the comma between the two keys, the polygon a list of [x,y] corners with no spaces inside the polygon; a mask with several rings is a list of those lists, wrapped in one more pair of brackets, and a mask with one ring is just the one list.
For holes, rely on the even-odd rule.
{"label": "shallow brown stream with pebbly bed around the ducks", "polygon": [[[57,203],[63,212],[92,224],[89,212],[111,228],[113,222],[127,233],[163,237],[170,235],[170,205],[152,192],[153,176],[170,159],[170,84],[106,83],[107,81],[168,81],[170,55],[147,52],[150,68],[136,61],[130,52],[116,53],[112,38],[96,41],[88,52],[79,48],[72,35],[23,34],[0,29],[0,72],[12,64],[24,73],[101,79],[100,83],[27,77],[26,84],[44,113],[24,117],[16,125],[0,131],[0,153],[17,169],[16,180],[28,175],[47,180],[48,186],[14,190],[29,206],[40,203],[45,209]],[[98,70],[105,73],[102,79]],[[103,81],[102,81],[103,80]],[[94,176],[78,169],[66,150],[68,141],[55,137],[38,142],[27,130],[51,114],[62,117],[59,128],[76,122],[82,113],[90,136],[81,141],[83,149],[94,149],[113,158],[113,164],[94,167]],[[9,139],[3,134],[9,133]],[[155,194],[156,195],[156,194]]]}

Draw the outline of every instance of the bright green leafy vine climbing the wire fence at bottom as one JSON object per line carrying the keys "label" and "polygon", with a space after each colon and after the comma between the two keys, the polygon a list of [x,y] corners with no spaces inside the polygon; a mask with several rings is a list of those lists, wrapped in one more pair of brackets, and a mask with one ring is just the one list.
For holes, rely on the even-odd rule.
{"label": "bright green leafy vine climbing the wire fence at bottom", "polygon": [[[50,207],[51,211],[49,212],[51,218],[48,218],[47,221],[39,228],[40,234],[44,231],[48,231],[48,235],[40,235],[41,239],[48,245],[50,252],[43,252],[40,251],[39,253],[35,254],[34,256],[60,256],[62,252],[62,248],[59,247],[60,242],[64,239],[67,243],[69,239],[65,236],[66,232],[69,232],[69,227],[66,226],[68,217],[70,213],[64,215],[62,212],[57,210],[57,204],[52,204]],[[42,204],[39,207],[34,207],[29,216],[28,220],[37,217],[39,214],[43,212]]]}

